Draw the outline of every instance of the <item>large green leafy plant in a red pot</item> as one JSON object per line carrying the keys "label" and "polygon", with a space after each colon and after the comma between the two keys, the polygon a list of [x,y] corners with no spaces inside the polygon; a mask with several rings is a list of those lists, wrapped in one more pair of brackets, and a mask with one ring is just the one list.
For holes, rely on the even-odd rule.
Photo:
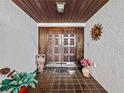
{"label": "large green leafy plant in a red pot", "polygon": [[11,93],[26,93],[26,88],[31,86],[35,88],[37,84],[36,72],[33,73],[16,73],[11,79],[4,79],[0,87],[0,93],[10,91]]}

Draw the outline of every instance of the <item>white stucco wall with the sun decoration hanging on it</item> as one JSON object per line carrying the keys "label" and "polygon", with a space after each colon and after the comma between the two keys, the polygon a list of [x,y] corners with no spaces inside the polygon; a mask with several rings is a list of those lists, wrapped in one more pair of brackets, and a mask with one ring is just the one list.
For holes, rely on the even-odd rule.
{"label": "white stucco wall with the sun decoration hanging on it", "polygon": [[[91,39],[91,28],[102,24],[100,40]],[[92,75],[108,93],[124,93],[124,0],[109,0],[86,24],[85,57],[96,63]]]}

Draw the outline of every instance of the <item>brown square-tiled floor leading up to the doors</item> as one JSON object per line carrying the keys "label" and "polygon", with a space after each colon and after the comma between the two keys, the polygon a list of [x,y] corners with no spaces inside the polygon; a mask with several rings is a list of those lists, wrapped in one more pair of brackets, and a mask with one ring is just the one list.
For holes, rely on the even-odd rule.
{"label": "brown square-tiled floor leading up to the doors", "polygon": [[39,84],[28,93],[108,93],[93,78],[84,78],[77,68],[46,68],[39,74]]}

